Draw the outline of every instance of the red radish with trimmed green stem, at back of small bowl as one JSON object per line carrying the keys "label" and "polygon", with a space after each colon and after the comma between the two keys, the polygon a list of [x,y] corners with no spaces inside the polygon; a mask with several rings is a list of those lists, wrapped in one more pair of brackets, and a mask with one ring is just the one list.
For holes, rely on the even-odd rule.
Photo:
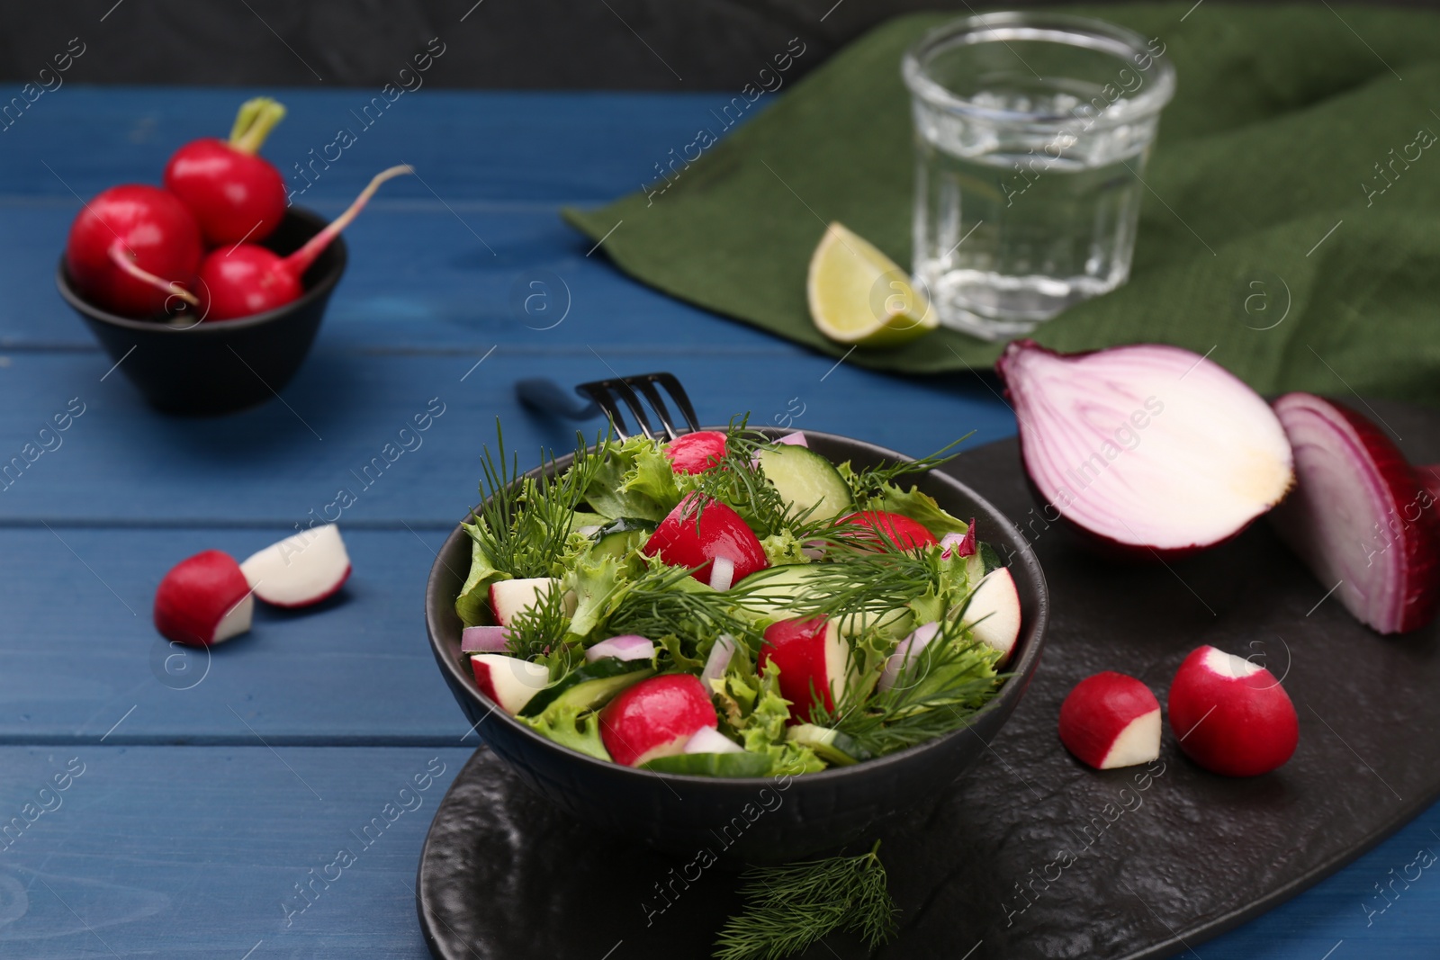
{"label": "red radish with trimmed green stem, at back of small bowl", "polygon": [[264,240],[285,216],[285,180],[256,155],[285,108],[268,96],[240,104],[230,138],[193,140],[166,164],[166,190],[190,207],[206,243]]}

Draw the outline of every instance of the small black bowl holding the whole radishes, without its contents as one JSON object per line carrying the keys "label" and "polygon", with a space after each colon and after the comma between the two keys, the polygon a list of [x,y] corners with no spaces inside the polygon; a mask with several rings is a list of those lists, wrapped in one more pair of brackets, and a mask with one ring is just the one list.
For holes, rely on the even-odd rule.
{"label": "small black bowl holding the whole radishes, without its contents", "polygon": [[[265,246],[298,250],[325,220],[291,207]],[[86,302],[65,271],[55,285],[151,406],[166,413],[230,413],[262,403],[289,383],[325,315],[330,294],[346,272],[341,237],[301,278],[304,294],[279,309],[216,322],[131,320]]]}

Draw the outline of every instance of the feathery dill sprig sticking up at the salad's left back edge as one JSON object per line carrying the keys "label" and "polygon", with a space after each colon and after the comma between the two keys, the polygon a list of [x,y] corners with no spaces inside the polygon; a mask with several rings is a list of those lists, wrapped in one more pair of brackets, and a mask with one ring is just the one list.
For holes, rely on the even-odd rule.
{"label": "feathery dill sprig sticking up at the salad's left back edge", "polygon": [[600,468],[608,438],[599,439],[596,450],[590,452],[585,436],[576,433],[575,462],[567,469],[559,469],[553,452],[547,456],[541,450],[539,476],[521,476],[520,455],[505,456],[505,436],[498,420],[495,435],[498,453],[482,448],[480,492],[484,499],[471,512],[467,531],[495,570],[513,577],[554,576],[575,511]]}

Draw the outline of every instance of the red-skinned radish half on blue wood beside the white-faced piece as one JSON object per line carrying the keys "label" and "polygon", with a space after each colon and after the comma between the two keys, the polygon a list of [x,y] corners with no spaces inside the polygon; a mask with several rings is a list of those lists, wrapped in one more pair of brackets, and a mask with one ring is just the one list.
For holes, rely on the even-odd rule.
{"label": "red-skinned radish half on blue wood beside the white-faced piece", "polygon": [[240,564],[219,550],[186,557],[156,590],[156,629],[190,646],[212,646],[245,633],[253,610]]}

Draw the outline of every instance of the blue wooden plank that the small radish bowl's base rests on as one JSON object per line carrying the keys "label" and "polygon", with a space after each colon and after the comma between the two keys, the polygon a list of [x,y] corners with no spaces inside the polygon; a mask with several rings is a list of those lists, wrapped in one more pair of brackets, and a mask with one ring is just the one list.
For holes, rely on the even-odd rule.
{"label": "blue wooden plank that the small radish bowl's base rests on", "polygon": [[[577,338],[554,348],[503,345],[485,358],[494,344],[477,344],[467,356],[382,356],[346,350],[323,334],[284,403],[223,419],[151,412],[121,371],[105,377],[111,364],[101,354],[9,354],[0,366],[0,465],[23,462],[26,443],[37,445],[40,427],[73,399],[84,415],[49,440],[59,440],[56,449],[23,471],[12,465],[9,486],[0,484],[0,524],[265,522],[281,530],[311,510],[323,514],[347,488],[357,502],[344,511],[346,524],[446,525],[475,497],[480,448],[494,440],[495,417],[527,463],[537,462],[541,445],[573,446],[576,425],[533,415],[516,400],[516,380],[536,376],[575,384],[612,371],[671,370],[706,422],[749,410],[759,423],[850,433],[910,455],[972,429],[973,443],[1014,432],[1009,410],[975,381],[886,377],[798,350],[697,350],[683,340],[652,347],[592,341],[592,350],[583,332]],[[366,465],[383,458],[386,443],[400,443],[400,429],[435,397],[442,415],[408,440],[413,452],[373,469],[364,486]],[[599,422],[585,426],[593,432]],[[30,455],[39,449],[29,448]]]}

